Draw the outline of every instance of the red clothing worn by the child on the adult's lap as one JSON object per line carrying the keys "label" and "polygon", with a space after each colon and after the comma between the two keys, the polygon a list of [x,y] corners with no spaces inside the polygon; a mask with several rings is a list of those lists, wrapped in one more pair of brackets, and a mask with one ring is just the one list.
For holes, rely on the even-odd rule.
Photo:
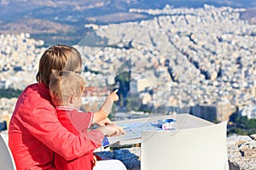
{"label": "red clothing worn by the child on the adult's lap", "polygon": [[[67,130],[76,135],[79,135],[79,133],[88,135],[86,133],[92,122],[93,113],[84,113],[72,107],[65,106],[57,106],[56,111],[59,121],[64,127],[67,127]],[[90,136],[87,137],[90,139]],[[55,155],[55,167],[62,170],[92,170],[94,166],[93,161],[93,150],[72,161],[66,161],[62,156]]]}

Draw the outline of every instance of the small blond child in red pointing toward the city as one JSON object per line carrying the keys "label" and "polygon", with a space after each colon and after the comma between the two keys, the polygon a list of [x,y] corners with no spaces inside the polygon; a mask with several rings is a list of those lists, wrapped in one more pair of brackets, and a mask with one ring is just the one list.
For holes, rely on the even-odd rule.
{"label": "small blond child in red pointing toward the city", "polygon": [[[106,128],[106,126],[102,128],[104,134],[113,134],[113,130],[116,130],[114,132],[116,134],[123,133],[119,127],[111,128],[116,126],[108,119],[113,102],[119,99],[116,94],[117,90],[108,95],[102,108],[95,113],[79,111],[78,108],[82,105],[83,91],[84,81],[77,73],[72,71],[52,71],[49,79],[49,94],[61,124],[74,134],[83,133],[91,141],[97,141],[96,134],[91,135],[93,133],[88,133],[90,125],[94,122],[98,122],[100,125],[108,124],[110,128]],[[56,169],[93,169],[95,164],[96,157],[93,155],[93,150],[88,150],[84,153],[84,156],[72,161],[66,161],[62,156],[55,155]],[[116,169],[126,169],[122,162],[115,162],[114,164],[119,164]]]}

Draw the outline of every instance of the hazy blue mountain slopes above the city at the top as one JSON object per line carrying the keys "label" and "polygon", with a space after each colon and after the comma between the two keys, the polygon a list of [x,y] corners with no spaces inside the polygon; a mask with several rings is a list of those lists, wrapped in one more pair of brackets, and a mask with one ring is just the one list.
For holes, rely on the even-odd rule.
{"label": "hazy blue mountain slopes above the city at the top", "polygon": [[30,33],[44,40],[46,46],[75,44],[90,32],[85,24],[106,25],[152,17],[129,13],[129,8],[163,8],[166,4],[198,8],[205,3],[247,8],[242,17],[256,23],[256,2],[251,0],[0,0],[0,34]]}

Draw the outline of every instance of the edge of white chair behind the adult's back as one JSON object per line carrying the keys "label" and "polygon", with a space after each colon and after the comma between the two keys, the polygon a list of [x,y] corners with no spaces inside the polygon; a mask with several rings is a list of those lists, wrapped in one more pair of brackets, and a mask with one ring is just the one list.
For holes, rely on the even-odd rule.
{"label": "edge of white chair behind the adult's back", "polygon": [[0,170],[15,170],[15,160],[9,145],[5,143],[2,135],[0,134]]}

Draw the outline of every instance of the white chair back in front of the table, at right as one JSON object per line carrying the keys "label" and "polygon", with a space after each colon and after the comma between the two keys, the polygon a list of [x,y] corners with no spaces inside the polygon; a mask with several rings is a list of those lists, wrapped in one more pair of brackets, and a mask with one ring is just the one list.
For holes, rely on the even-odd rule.
{"label": "white chair back in front of the table, at right", "polygon": [[227,122],[170,131],[143,131],[142,170],[228,170]]}

